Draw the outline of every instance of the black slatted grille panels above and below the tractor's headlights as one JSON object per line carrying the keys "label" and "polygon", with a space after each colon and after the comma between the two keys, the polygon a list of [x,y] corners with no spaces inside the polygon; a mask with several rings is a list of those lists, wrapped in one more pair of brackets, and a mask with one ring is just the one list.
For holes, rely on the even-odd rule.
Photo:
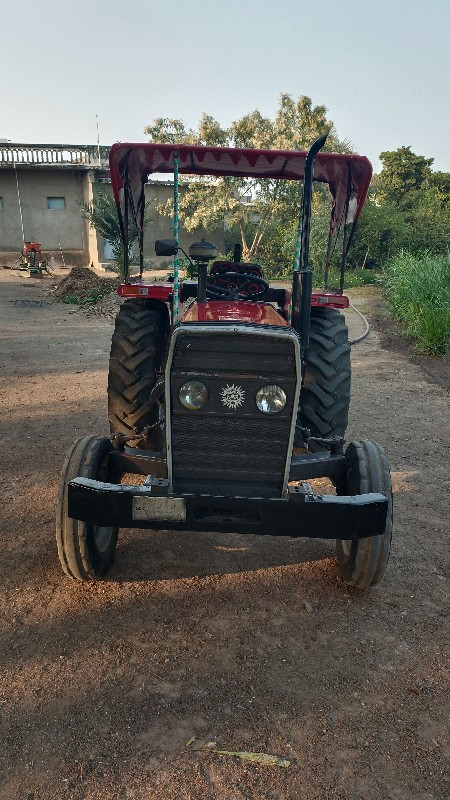
{"label": "black slatted grille panels above and below the tractor's headlights", "polygon": [[[172,386],[201,375],[255,391],[258,380],[295,389],[293,340],[281,336],[179,333],[172,361]],[[250,388],[248,388],[250,387]],[[174,390],[175,387],[173,387]],[[174,392],[175,394],[175,392]],[[172,403],[172,478],[175,491],[241,497],[280,497],[283,491],[292,413],[282,417],[252,412],[240,415],[211,403],[202,412]],[[222,410],[221,410],[222,408]]]}

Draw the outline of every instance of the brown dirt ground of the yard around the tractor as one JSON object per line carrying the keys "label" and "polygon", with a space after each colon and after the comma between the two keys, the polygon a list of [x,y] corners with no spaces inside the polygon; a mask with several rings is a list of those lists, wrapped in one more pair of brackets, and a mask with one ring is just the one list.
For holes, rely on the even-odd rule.
{"label": "brown dirt ground of the yard around the tractor", "polygon": [[107,432],[113,323],[48,280],[0,272],[1,800],[448,800],[445,387],[374,330],[353,349],[349,438],[386,447],[396,491],[374,589],[342,583],[332,542],[137,530],[75,583],[57,485]]}

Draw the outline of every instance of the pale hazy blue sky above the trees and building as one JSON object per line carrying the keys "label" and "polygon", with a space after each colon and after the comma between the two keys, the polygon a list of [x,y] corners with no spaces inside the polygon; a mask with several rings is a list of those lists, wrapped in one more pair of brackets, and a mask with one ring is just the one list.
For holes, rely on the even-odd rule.
{"label": "pale hazy blue sky above the trees and building", "polygon": [[282,92],[325,105],[381,168],[450,171],[450,0],[15,0],[2,4],[0,137],[146,141],[156,117],[226,127]]}

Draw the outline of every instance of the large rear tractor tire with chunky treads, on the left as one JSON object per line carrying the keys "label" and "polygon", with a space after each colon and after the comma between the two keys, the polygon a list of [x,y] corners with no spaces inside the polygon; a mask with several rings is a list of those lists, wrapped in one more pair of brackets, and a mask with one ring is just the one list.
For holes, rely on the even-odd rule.
{"label": "large rear tractor tire with chunky treads, on the left", "polygon": [[[111,433],[141,432],[158,421],[159,406],[150,402],[150,393],[162,366],[168,332],[169,313],[165,303],[128,300],[121,306],[109,359]],[[155,437],[147,446],[158,449]]]}

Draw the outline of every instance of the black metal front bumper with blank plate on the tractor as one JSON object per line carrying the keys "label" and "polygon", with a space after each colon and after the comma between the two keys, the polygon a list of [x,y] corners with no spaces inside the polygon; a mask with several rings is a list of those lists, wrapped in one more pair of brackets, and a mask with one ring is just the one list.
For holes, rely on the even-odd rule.
{"label": "black metal front bumper with blank plate on the tractor", "polygon": [[387,508],[382,494],[315,495],[297,486],[283,499],[170,494],[165,479],[129,486],[75,478],[68,487],[69,517],[121,528],[360,539],[384,532]]}

